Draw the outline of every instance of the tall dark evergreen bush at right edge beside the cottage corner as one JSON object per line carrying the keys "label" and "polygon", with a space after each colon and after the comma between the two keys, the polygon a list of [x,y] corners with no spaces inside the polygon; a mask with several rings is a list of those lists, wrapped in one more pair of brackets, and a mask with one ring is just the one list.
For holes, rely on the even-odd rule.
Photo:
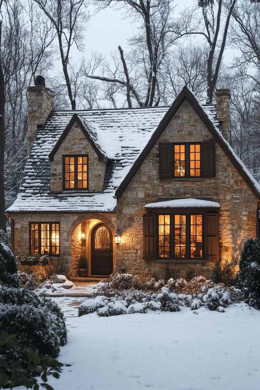
{"label": "tall dark evergreen bush at right edge beside the cottage corner", "polygon": [[242,248],[235,285],[248,305],[260,309],[260,238],[249,238]]}

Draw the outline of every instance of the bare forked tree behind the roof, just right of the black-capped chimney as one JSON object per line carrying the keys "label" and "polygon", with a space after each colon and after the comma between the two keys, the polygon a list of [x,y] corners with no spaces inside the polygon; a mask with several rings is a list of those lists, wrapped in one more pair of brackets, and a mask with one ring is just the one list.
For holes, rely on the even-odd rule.
{"label": "bare forked tree behind the roof, just right of the black-capped chimney", "polygon": [[70,50],[73,44],[78,50],[83,48],[83,31],[86,27],[88,14],[85,11],[84,0],[34,0],[55,27],[62,70],[67,86],[72,110],[76,109],[76,90],[69,73]]}

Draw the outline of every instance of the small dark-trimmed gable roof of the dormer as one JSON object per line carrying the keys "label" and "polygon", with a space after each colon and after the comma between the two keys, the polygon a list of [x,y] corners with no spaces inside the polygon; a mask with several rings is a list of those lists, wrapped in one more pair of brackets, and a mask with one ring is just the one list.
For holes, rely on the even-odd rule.
{"label": "small dark-trimmed gable roof of the dormer", "polygon": [[73,114],[73,117],[71,118],[71,120],[69,121],[67,126],[65,127],[62,135],[60,136],[60,138],[56,142],[55,146],[53,147],[52,151],[50,152],[49,160],[53,161],[53,158],[54,158],[56,152],[60,148],[62,142],[64,141],[64,139],[66,137],[66,135],[69,133],[70,129],[73,127],[73,125],[75,123],[78,124],[78,126],[81,129],[81,131],[83,132],[83,134],[87,138],[88,142],[90,143],[90,145],[92,146],[94,151],[97,153],[99,161],[107,162],[107,159],[105,158],[105,153],[101,149],[101,146],[99,145],[99,140],[98,140],[98,137],[97,137],[97,131],[95,129],[95,125],[90,123],[86,119],[80,117],[76,113]]}

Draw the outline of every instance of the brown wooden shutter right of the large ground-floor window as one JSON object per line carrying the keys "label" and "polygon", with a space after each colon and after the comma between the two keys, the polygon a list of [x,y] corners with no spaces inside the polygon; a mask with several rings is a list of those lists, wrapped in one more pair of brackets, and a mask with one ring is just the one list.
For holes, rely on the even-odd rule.
{"label": "brown wooden shutter right of the large ground-floor window", "polygon": [[219,214],[205,215],[205,261],[219,260]]}

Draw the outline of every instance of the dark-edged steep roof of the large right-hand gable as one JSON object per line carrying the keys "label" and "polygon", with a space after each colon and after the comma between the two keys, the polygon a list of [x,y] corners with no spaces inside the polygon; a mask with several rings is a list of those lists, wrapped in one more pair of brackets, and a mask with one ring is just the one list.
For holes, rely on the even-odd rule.
{"label": "dark-edged steep roof of the large right-hand gable", "polygon": [[172,117],[175,115],[177,110],[179,109],[180,105],[183,103],[184,100],[187,100],[189,104],[193,107],[195,112],[198,114],[202,122],[205,124],[205,126],[209,129],[210,133],[218,142],[219,146],[223,149],[226,156],[230,159],[234,167],[237,169],[241,177],[244,179],[250,190],[253,192],[253,194],[260,199],[260,184],[257,183],[257,181],[254,179],[254,177],[250,174],[248,169],[244,166],[242,161],[237,157],[235,152],[233,151],[232,147],[228,144],[228,142],[225,140],[219,129],[215,126],[212,119],[210,119],[209,115],[205,112],[205,109],[200,104],[200,102],[196,99],[195,95],[191,90],[189,90],[188,87],[184,87],[179,95],[176,97],[175,101],[170,106],[168,112],[164,115],[163,119],[157,126],[157,129],[154,131],[152,137],[150,138],[149,142],[139,155],[139,157],[136,159],[134,164],[132,165],[131,169],[129,170],[128,174],[120,184],[120,186],[115,191],[115,197],[117,199],[120,198],[124,190],[126,189],[127,185],[130,183],[130,181],[133,179],[134,175],[136,174],[137,170],[140,168],[141,164],[147,157],[148,153],[156,143],[157,139],[160,137],[161,133],[164,131]]}

